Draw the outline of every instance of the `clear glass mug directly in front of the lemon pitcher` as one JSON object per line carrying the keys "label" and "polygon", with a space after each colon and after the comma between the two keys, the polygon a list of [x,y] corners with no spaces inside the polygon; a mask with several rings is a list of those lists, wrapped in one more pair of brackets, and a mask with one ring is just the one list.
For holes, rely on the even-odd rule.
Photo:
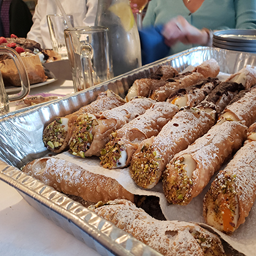
{"label": "clear glass mug directly in front of the lemon pitcher", "polygon": [[64,35],[75,92],[113,78],[107,28],[77,27]]}

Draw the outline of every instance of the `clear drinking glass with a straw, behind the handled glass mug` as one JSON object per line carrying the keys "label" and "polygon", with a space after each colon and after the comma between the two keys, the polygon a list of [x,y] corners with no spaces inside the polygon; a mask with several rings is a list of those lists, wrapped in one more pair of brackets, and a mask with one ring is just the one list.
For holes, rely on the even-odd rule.
{"label": "clear drinking glass with a straw, behind the handled glass mug", "polygon": [[[67,15],[73,26],[73,16]],[[69,28],[67,22],[61,14],[47,15],[47,23],[51,37],[53,50],[61,55],[61,59],[68,59],[67,47],[64,39],[64,29]]]}

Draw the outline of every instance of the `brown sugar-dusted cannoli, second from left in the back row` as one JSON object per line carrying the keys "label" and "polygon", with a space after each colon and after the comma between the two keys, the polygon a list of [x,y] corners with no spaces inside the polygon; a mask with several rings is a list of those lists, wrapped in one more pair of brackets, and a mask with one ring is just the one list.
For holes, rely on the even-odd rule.
{"label": "brown sugar-dusted cannoli, second from left in the back row", "polygon": [[187,88],[190,85],[194,85],[205,77],[201,73],[186,72],[179,74],[173,79],[169,79],[164,83],[159,83],[152,87],[149,92],[149,97],[157,101],[165,101],[173,94],[177,89]]}

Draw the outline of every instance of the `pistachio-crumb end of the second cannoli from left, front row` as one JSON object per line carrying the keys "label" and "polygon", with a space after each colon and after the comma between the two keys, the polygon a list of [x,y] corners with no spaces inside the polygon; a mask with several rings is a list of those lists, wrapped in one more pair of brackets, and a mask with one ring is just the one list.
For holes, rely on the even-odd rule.
{"label": "pistachio-crumb end of the second cannoli from left, front row", "polygon": [[93,116],[85,114],[78,117],[69,142],[69,151],[73,155],[85,158],[85,152],[88,151],[93,140],[92,129],[97,125],[98,122]]}

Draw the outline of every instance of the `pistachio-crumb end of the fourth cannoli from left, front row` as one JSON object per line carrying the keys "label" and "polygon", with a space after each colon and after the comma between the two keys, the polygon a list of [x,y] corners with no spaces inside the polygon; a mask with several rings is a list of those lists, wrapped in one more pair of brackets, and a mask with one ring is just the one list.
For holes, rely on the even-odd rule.
{"label": "pistachio-crumb end of the fourth cannoli from left, front row", "polygon": [[161,158],[149,145],[141,148],[138,157],[130,164],[130,173],[134,181],[140,187],[148,187],[159,178],[159,161]]}

